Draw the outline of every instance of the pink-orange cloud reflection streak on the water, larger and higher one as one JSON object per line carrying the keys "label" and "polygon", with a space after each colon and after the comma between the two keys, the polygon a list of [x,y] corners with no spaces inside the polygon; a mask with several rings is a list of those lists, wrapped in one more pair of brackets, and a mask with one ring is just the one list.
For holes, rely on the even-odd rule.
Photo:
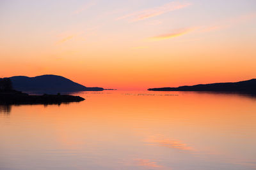
{"label": "pink-orange cloud reflection streak on the water, larger and higher one", "polygon": [[152,136],[146,139],[145,142],[148,143],[148,145],[153,146],[164,146],[167,148],[175,148],[177,150],[195,151],[194,148],[188,146],[186,143],[182,143],[181,141],[173,140],[170,138]]}

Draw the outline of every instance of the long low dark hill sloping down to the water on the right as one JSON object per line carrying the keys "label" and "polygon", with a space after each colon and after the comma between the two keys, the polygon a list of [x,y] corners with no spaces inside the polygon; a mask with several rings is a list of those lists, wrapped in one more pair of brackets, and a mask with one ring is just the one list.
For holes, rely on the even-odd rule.
{"label": "long low dark hill sloping down to the water on the right", "polygon": [[180,87],[148,89],[152,91],[218,91],[218,92],[256,92],[256,79],[235,83],[211,83]]}

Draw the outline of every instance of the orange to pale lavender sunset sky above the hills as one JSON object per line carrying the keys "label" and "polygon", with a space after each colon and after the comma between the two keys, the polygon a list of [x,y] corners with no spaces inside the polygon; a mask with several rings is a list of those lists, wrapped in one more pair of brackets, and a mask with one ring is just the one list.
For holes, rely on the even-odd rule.
{"label": "orange to pale lavender sunset sky above the hills", "polygon": [[256,78],[255,0],[1,0],[0,37],[0,77],[122,90]]}

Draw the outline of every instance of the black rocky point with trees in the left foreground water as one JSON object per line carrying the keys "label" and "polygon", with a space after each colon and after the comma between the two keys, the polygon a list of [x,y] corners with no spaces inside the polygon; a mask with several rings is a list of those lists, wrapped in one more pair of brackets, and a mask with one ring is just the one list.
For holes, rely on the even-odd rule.
{"label": "black rocky point with trees in the left foreground water", "polygon": [[0,103],[1,104],[61,104],[84,101],[83,97],[70,95],[29,95],[13,90],[10,78],[0,78]]}

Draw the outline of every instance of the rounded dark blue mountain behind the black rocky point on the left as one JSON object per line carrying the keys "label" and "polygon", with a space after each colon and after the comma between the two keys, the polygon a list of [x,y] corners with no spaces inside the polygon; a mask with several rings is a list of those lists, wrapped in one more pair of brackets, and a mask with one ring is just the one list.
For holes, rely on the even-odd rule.
{"label": "rounded dark blue mountain behind the black rocky point on the left", "polygon": [[51,74],[35,77],[13,76],[10,77],[10,79],[12,80],[13,89],[22,92],[76,92],[104,90],[100,87],[84,87],[63,76]]}

